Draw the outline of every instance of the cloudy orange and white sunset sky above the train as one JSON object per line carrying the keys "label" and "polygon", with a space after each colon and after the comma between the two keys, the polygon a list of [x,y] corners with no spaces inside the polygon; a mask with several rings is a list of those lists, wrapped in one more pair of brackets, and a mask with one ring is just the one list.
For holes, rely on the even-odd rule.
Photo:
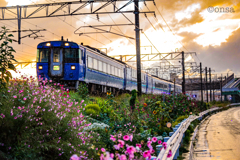
{"label": "cloudy orange and white sunset sky above the train", "polygon": [[[70,0],[0,0],[0,7],[63,2]],[[153,2],[140,3],[141,11],[155,11],[153,14],[140,15],[141,46],[152,46],[153,53],[167,53],[174,51],[196,52],[194,60],[202,62],[203,67],[211,67],[215,73],[232,73],[240,75],[240,1],[239,0],[155,0]],[[120,7],[124,3],[117,3]],[[94,7],[98,7],[98,4]],[[77,6],[73,6],[72,9]],[[209,8],[210,7],[210,8]],[[105,8],[111,11],[112,6]],[[125,10],[132,10],[133,5]],[[88,10],[86,7],[83,11]],[[49,9],[54,10],[54,8]],[[66,13],[67,8],[59,13]],[[103,9],[104,11],[104,9]],[[220,11],[222,13],[220,13]],[[10,12],[9,17],[13,15]],[[39,14],[45,13],[44,10]],[[161,16],[161,15],[162,16]],[[1,13],[0,13],[1,16]],[[131,22],[134,22],[133,14],[126,14]],[[163,19],[164,18],[164,19]],[[88,16],[69,16],[55,18],[27,19],[22,21],[22,29],[46,29],[38,35],[37,39],[24,38],[22,44],[13,43],[16,49],[15,58],[18,61],[35,61],[37,45],[43,41],[59,40],[61,36],[69,41],[90,45],[96,48],[107,48],[109,55],[135,54],[135,40],[113,34],[89,34],[76,33],[95,32],[95,30],[83,28],[87,25],[103,24],[129,24],[123,14]],[[149,22],[150,21],[150,22]],[[7,26],[10,30],[17,29],[17,21],[1,21],[0,26]],[[170,29],[169,29],[170,28]],[[102,29],[110,30],[109,27]],[[135,37],[134,26],[112,27],[112,32]],[[22,33],[22,36],[27,33]],[[145,36],[146,35],[146,36]],[[17,39],[17,34],[14,34]],[[150,41],[148,40],[150,39]],[[149,53],[150,47],[142,48],[142,53]],[[192,59],[193,60],[193,59]],[[191,60],[190,60],[191,61]],[[150,67],[152,63],[144,63]],[[155,64],[157,65],[157,63]]]}

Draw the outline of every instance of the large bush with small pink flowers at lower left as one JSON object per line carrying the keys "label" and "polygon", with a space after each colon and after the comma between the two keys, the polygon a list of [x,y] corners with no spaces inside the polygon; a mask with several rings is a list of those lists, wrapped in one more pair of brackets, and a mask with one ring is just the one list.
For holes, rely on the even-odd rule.
{"label": "large bush with small pink flowers at lower left", "polygon": [[79,151],[87,151],[80,155],[89,154],[89,159],[98,157],[90,148],[96,133],[81,132],[90,125],[81,104],[71,101],[63,88],[57,90],[46,82],[40,80],[37,86],[34,78],[15,79],[1,97],[2,157],[68,159]]}

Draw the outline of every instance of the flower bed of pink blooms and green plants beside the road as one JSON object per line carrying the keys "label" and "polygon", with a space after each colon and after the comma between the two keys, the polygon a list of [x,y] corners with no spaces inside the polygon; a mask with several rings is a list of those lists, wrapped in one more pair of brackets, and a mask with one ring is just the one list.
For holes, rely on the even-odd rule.
{"label": "flower bed of pink blooms and green plants beside the road", "polygon": [[149,158],[156,156],[159,136],[172,131],[167,122],[207,108],[182,94],[76,97],[46,80],[11,81],[0,95],[0,158]]}

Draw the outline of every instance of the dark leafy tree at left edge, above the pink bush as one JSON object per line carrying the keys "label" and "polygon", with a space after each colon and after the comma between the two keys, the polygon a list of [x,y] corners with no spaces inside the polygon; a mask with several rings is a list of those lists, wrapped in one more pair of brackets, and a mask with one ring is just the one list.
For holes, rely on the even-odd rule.
{"label": "dark leafy tree at left edge, above the pink bush", "polygon": [[7,34],[8,30],[4,26],[2,27],[2,31],[0,31],[0,89],[6,88],[9,79],[12,78],[12,74],[7,70],[16,71],[15,66],[12,64],[12,61],[17,62],[12,54],[16,51],[13,47],[9,46],[9,43],[12,43],[10,37],[13,37],[13,35]]}

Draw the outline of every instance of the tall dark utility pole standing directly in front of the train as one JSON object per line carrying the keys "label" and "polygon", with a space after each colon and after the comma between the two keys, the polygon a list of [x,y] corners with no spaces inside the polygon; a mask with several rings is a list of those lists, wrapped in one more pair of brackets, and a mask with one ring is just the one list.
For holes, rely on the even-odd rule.
{"label": "tall dark utility pole standing directly in front of the train", "polygon": [[140,23],[139,23],[139,0],[135,0],[135,32],[136,32],[136,56],[137,56],[137,88],[138,95],[142,94],[142,81],[141,81],[141,53],[140,53]]}

